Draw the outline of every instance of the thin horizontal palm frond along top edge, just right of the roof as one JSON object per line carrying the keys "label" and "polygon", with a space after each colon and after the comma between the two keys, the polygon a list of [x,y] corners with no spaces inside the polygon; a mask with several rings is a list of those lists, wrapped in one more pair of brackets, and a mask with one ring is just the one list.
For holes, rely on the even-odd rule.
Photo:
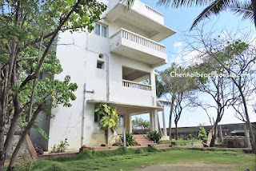
{"label": "thin horizontal palm frond along top edge, just right of the roof", "polygon": [[182,6],[206,6],[211,2],[213,2],[213,0],[158,0],[157,4],[159,6],[178,8]]}

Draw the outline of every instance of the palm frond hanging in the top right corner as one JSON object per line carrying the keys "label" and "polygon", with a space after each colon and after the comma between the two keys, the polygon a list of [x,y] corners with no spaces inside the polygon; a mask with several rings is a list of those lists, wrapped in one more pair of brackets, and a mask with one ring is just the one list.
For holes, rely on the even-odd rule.
{"label": "palm frond hanging in the top right corner", "polygon": [[249,19],[252,22],[254,21],[254,11],[250,1],[237,2],[235,4],[231,4],[230,10],[233,11],[234,14],[242,16],[243,20]]}

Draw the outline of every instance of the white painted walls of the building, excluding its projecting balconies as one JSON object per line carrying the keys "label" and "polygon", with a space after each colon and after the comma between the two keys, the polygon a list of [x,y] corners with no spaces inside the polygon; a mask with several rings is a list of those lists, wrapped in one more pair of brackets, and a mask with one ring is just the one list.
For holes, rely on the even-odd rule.
{"label": "white painted walls of the building, excluding its projecting balconies", "polygon": [[[112,0],[114,1],[114,0]],[[114,34],[121,27],[131,29],[137,34],[146,36],[143,30],[124,25],[122,22],[106,23],[109,26],[109,35]],[[61,44],[74,43],[64,46]],[[71,82],[78,84],[75,92],[77,99],[72,101],[70,108],[59,105],[52,109],[55,115],[50,120],[49,149],[59,141],[67,137],[69,149],[81,147],[82,115],[85,108],[84,143],[88,146],[105,143],[104,132],[94,123],[94,104],[84,104],[84,85],[86,90],[94,90],[94,93],[86,93],[87,100],[106,101],[106,62],[109,58],[110,72],[110,101],[130,105],[156,105],[154,68],[142,62],[110,53],[110,39],[102,38],[94,33],[69,31],[58,36],[57,57],[63,68],[62,74],[54,75],[54,79],[63,80],[70,75]],[[99,58],[103,54],[104,58]],[[97,60],[105,62],[104,70],[97,69]],[[143,70],[150,73],[152,90],[132,89],[122,86],[122,66]]]}

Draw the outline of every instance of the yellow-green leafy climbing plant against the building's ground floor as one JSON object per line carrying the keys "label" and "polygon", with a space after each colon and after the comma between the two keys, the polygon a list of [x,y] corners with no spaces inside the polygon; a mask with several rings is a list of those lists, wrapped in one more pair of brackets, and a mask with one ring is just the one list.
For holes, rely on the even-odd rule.
{"label": "yellow-green leafy climbing plant against the building's ground floor", "polygon": [[110,129],[112,133],[118,128],[118,114],[110,105],[98,103],[95,105],[94,113],[101,116],[99,126],[102,130]]}

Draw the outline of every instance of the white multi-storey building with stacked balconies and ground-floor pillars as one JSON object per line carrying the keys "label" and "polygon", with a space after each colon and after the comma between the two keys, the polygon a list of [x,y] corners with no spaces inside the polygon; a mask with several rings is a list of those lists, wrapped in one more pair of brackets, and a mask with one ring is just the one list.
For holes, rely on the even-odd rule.
{"label": "white multi-storey building with stacked balconies and ground-floor pillars", "polygon": [[158,130],[157,114],[162,107],[157,102],[154,70],[167,62],[166,46],[158,42],[175,32],[164,26],[160,12],[142,2],[135,1],[128,11],[118,0],[104,3],[108,6],[104,19],[95,23],[92,33],[59,34],[57,57],[63,72],[54,79],[70,75],[71,82],[78,84],[77,99],[70,108],[53,109],[52,119],[41,116],[40,126],[49,133],[49,140],[31,131],[32,141],[45,150],[66,137],[70,149],[105,144],[105,133],[94,116],[98,102],[114,106],[119,115],[110,143],[124,127],[131,131],[132,115],[150,113],[151,129]]}

